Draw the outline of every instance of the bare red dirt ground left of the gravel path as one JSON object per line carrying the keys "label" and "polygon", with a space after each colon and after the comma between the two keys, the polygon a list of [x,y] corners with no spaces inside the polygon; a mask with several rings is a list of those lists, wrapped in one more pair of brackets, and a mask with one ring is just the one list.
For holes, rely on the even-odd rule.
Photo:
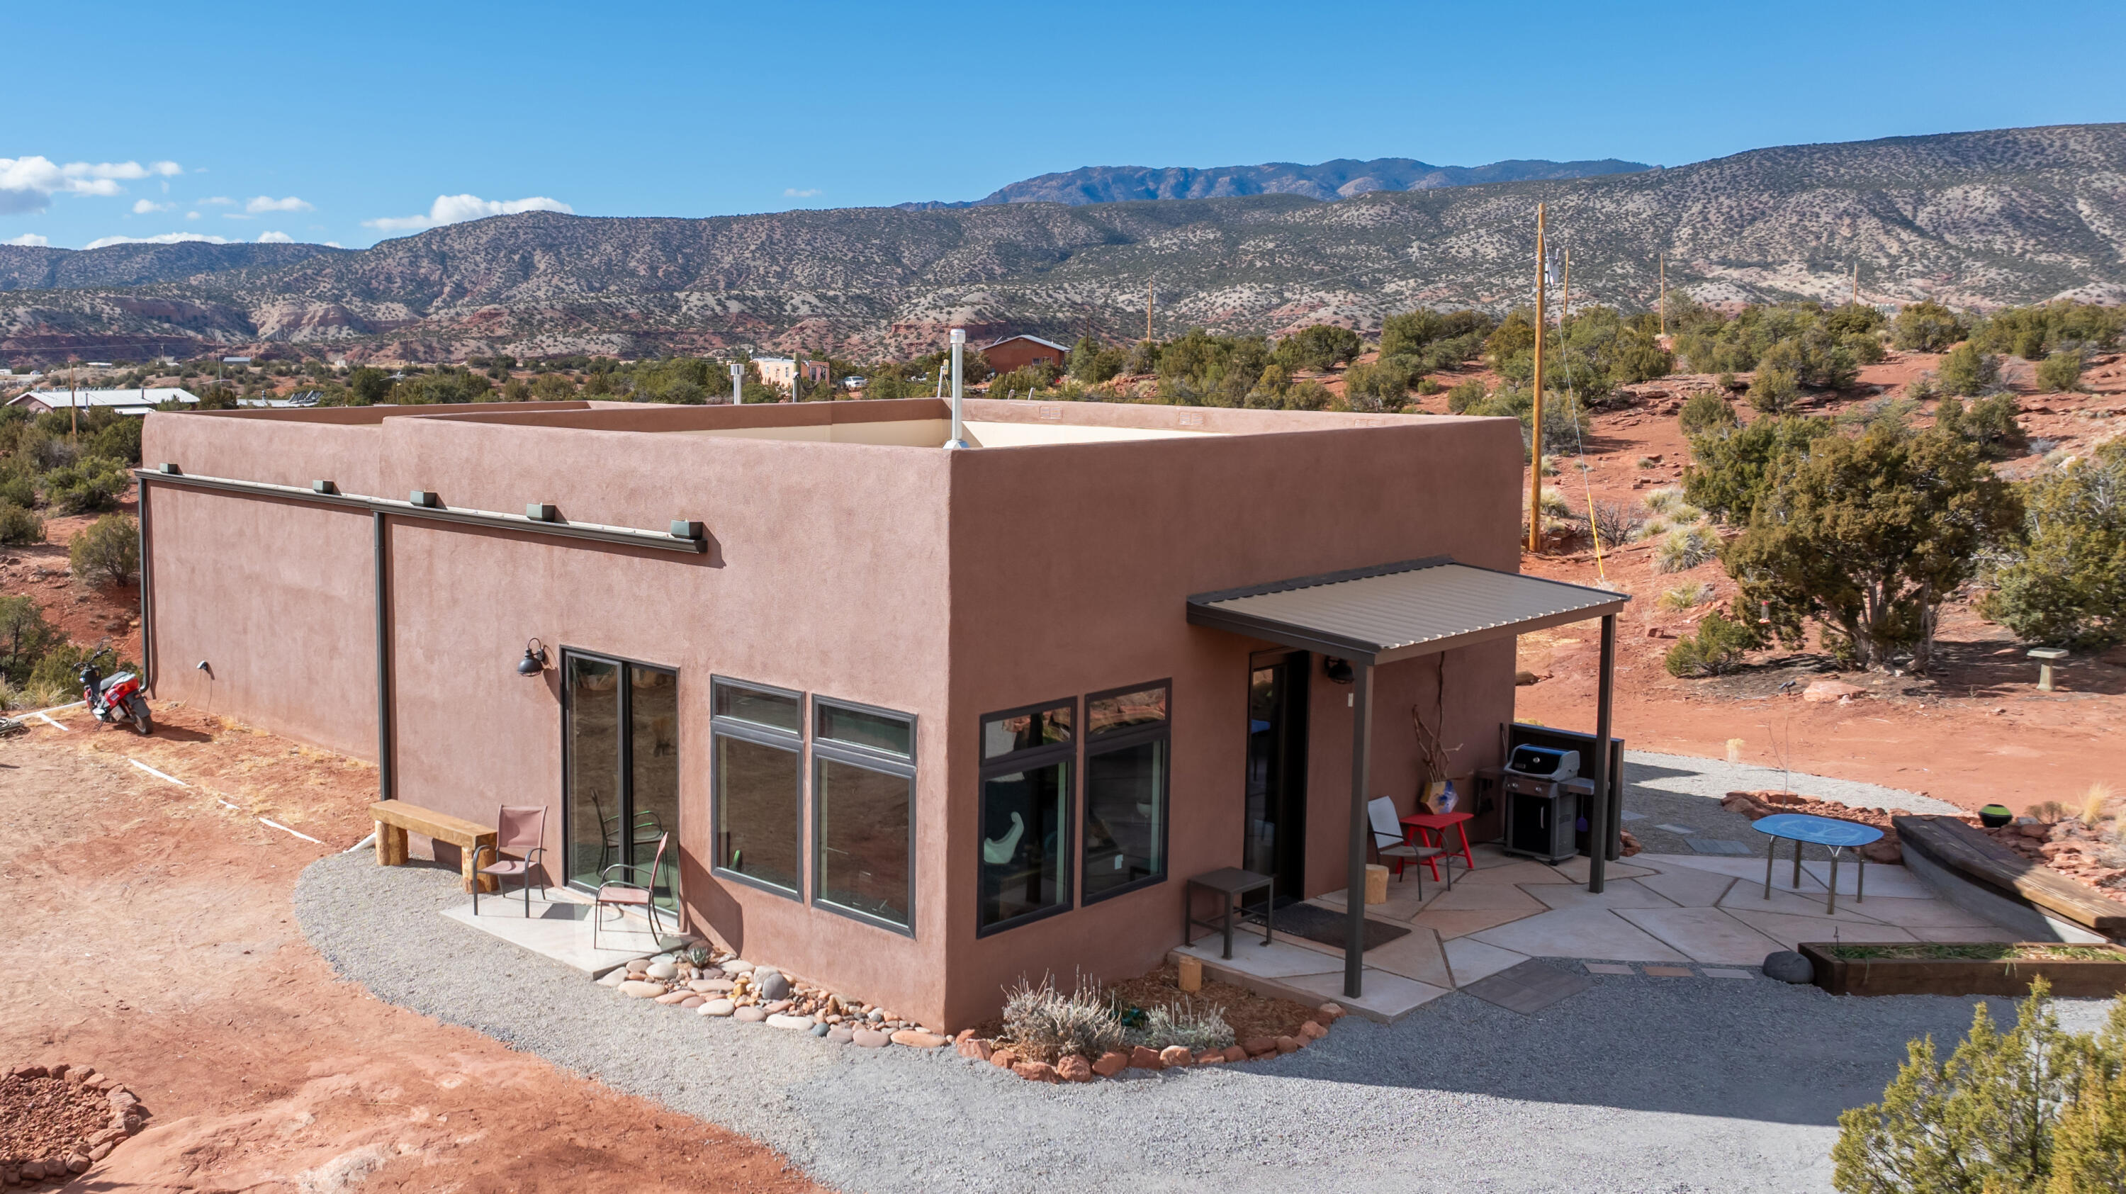
{"label": "bare red dirt ground left of the gravel path", "polygon": [[0,1064],[89,1062],[153,1111],[68,1190],[816,1190],[744,1137],[334,979],[289,892],[368,833],[372,767],[183,705],[153,739],[55,716],[0,746]]}

